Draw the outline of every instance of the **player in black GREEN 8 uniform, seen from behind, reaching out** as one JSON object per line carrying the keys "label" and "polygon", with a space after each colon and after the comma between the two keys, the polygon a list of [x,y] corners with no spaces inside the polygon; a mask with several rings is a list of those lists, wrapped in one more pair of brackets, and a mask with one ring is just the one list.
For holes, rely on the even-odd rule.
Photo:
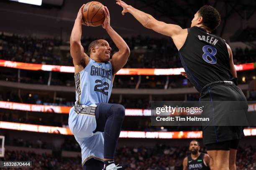
{"label": "player in black GREEN 8 uniform, seen from behind, reaching out", "polygon": [[[172,38],[185,70],[182,74],[200,92],[200,100],[244,101],[240,109],[248,108],[246,97],[237,87],[232,51],[225,40],[211,33],[220,24],[220,14],[214,7],[202,6],[191,21],[191,28],[182,29],[158,21],[122,0],[116,3],[123,7],[122,15],[131,13],[144,27]],[[236,170],[236,151],[243,127],[212,125],[203,126],[202,131],[214,169]]]}

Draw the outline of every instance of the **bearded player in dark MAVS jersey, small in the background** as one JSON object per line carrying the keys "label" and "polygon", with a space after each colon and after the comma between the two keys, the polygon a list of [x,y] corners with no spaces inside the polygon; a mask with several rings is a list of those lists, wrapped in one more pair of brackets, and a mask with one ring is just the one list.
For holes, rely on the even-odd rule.
{"label": "bearded player in dark MAVS jersey, small in the background", "polygon": [[189,143],[191,154],[183,160],[183,170],[213,170],[210,156],[206,153],[200,153],[200,145],[197,140]]}

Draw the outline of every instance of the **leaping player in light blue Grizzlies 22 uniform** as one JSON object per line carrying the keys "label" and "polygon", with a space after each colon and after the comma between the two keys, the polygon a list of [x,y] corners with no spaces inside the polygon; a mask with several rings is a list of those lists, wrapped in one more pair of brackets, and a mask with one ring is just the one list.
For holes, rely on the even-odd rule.
{"label": "leaping player in light blue Grizzlies 22 uniform", "polygon": [[[110,26],[110,15],[104,7],[102,24],[118,52],[110,60],[111,47],[106,40],[90,43],[88,53],[81,44],[82,19],[80,8],[70,36],[70,52],[75,68],[76,102],[69,112],[69,128],[79,143],[84,170],[117,170],[114,154],[125,116],[125,108],[108,104],[115,73],[128,60],[130,50],[125,41]],[[103,163],[104,162],[104,163]]]}

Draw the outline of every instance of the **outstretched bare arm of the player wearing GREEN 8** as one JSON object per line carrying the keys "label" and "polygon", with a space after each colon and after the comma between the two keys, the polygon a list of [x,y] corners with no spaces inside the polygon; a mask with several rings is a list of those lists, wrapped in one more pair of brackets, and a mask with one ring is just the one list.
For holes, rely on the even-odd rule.
{"label": "outstretched bare arm of the player wearing GREEN 8", "polygon": [[179,25],[174,24],[166,24],[159,20],[156,20],[152,15],[144,13],[131,5],[127,5],[122,0],[116,0],[116,4],[123,7],[122,14],[131,13],[144,27],[152,29],[160,34],[167,35],[173,37],[178,34],[182,28]]}

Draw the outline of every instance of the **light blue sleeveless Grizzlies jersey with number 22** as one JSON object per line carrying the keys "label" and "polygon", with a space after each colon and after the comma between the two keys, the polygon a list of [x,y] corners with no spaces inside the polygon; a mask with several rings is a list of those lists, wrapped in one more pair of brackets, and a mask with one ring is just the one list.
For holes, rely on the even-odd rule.
{"label": "light blue sleeveless Grizzlies jersey with number 22", "polygon": [[112,65],[110,61],[90,62],[81,72],[75,75],[75,105],[92,105],[99,102],[108,103],[112,90]]}

